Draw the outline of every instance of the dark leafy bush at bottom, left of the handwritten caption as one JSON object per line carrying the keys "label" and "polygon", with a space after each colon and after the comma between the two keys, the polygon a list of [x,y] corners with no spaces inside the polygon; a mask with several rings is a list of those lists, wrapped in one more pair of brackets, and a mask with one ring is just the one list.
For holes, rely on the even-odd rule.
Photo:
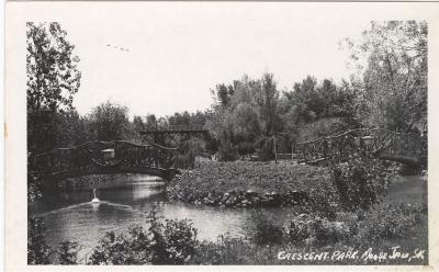
{"label": "dark leafy bush at bottom, left of the handwritten caption", "polygon": [[148,215],[148,229],[134,226],[127,233],[106,233],[94,248],[90,264],[184,264],[195,252],[196,229],[184,220],[166,220],[157,211]]}

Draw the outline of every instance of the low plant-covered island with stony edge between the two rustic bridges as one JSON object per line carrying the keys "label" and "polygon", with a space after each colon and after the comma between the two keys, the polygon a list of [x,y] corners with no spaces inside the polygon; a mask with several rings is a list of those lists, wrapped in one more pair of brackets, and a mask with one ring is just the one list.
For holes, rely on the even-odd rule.
{"label": "low plant-covered island with stony edge between the two rustic bridges", "polygon": [[330,213],[329,206],[369,209],[386,194],[392,163],[352,155],[331,167],[292,161],[202,161],[167,185],[171,200],[229,207],[300,206]]}

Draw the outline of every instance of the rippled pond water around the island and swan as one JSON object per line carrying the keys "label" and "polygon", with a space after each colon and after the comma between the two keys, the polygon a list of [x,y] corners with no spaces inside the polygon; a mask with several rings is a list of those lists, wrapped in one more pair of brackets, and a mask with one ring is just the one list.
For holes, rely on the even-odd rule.
{"label": "rippled pond water around the island and swan", "polygon": [[[420,201],[426,192],[426,179],[405,177],[391,186],[386,202]],[[198,237],[210,241],[224,234],[246,236],[255,212],[169,202],[165,183],[147,177],[127,177],[116,188],[99,189],[97,196],[100,203],[91,203],[91,189],[52,194],[29,206],[29,211],[31,215],[44,217],[49,246],[57,247],[64,240],[77,241],[82,247],[82,254],[90,252],[105,231],[119,233],[134,224],[145,225],[146,215],[153,206],[157,206],[165,218],[191,219],[199,230]],[[286,223],[292,216],[289,207],[261,211],[279,223]]]}

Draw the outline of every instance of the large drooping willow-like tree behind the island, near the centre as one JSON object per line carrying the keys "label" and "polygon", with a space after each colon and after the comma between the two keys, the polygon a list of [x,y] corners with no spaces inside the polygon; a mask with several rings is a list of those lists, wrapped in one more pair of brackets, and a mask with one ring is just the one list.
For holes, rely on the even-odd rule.
{"label": "large drooping willow-like tree behind the island, near the centre", "polygon": [[[217,87],[214,93],[218,98],[225,93],[226,84],[219,87],[223,88]],[[216,100],[206,122],[219,143],[219,157],[227,160],[261,150],[273,134],[282,131],[280,94],[272,73],[258,80],[244,76],[229,87],[233,92],[227,92],[227,102]]]}

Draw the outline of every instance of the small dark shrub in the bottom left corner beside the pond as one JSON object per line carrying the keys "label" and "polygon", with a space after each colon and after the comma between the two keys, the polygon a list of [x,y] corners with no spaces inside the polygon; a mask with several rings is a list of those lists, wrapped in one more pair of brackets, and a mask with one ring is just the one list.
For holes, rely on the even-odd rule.
{"label": "small dark shrub in the bottom left corner beside the pond", "polygon": [[27,264],[50,263],[53,251],[45,242],[45,227],[42,217],[27,219]]}

